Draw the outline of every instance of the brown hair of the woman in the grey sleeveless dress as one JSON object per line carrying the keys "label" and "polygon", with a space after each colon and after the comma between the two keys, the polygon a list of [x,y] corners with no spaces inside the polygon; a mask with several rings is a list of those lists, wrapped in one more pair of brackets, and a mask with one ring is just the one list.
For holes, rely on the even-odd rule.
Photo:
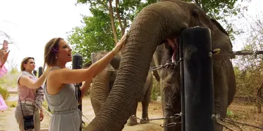
{"label": "brown hair of the woman in the grey sleeveless dress", "polygon": [[48,66],[54,66],[57,62],[56,55],[58,52],[59,44],[62,38],[57,37],[53,38],[46,43],[45,49],[44,49],[44,66],[43,70],[46,65]]}

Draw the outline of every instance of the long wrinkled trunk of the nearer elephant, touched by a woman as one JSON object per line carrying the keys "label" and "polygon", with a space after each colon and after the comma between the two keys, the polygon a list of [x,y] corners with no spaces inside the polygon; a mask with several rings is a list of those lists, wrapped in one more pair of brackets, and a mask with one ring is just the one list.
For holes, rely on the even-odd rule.
{"label": "long wrinkled trunk of the nearer elephant, touched by a woman", "polygon": [[124,128],[143,89],[156,47],[187,28],[189,18],[180,14],[186,10],[176,3],[153,3],[138,13],[129,30],[114,87],[105,105],[84,130],[118,131]]}

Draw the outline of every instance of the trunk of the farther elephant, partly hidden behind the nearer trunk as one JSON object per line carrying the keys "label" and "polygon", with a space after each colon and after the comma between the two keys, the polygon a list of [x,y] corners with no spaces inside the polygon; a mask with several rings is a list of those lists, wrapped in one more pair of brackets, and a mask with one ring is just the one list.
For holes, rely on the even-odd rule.
{"label": "trunk of the farther elephant, partly hidden behind the nearer trunk", "polygon": [[91,104],[95,115],[105,103],[109,95],[109,72],[104,70],[93,78],[91,86]]}

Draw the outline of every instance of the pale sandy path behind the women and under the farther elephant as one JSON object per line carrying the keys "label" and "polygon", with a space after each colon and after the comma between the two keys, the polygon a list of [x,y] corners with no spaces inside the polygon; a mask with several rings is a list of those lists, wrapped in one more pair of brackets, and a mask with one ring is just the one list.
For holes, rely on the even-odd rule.
{"label": "pale sandy path behind the women and under the farther elephant", "polygon": [[[17,101],[15,96],[11,97],[12,99],[8,99],[7,102],[9,103],[15,103]],[[95,114],[93,112],[93,108],[91,106],[91,101],[89,97],[85,97],[82,101],[82,112],[85,117],[87,117],[87,120],[85,117],[83,117],[83,120],[86,123],[89,123],[92,119],[94,119]],[[138,104],[137,108],[137,115],[140,118],[141,115],[141,105]],[[149,118],[159,118],[162,117],[162,111],[161,111],[161,105],[157,103],[150,103],[149,104]],[[48,128],[50,121],[50,117],[48,113],[45,113],[44,120],[41,123],[41,128]],[[150,123],[146,124],[140,124],[140,121],[138,120],[138,125],[134,126],[127,126],[125,125],[124,131],[143,131],[143,130],[162,130],[161,125],[162,121],[150,121]],[[3,112],[0,112],[0,130],[4,131],[14,131],[18,130],[17,121],[15,120],[15,108],[12,106],[8,107],[8,110],[5,110]]]}

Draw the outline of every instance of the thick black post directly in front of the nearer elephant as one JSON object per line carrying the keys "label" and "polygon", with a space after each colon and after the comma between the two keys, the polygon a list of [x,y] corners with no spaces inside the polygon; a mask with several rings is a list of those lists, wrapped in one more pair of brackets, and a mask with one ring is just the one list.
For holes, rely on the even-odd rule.
{"label": "thick black post directly in front of the nearer elephant", "polygon": [[210,29],[188,28],[181,34],[185,84],[185,131],[213,131],[214,85]]}

